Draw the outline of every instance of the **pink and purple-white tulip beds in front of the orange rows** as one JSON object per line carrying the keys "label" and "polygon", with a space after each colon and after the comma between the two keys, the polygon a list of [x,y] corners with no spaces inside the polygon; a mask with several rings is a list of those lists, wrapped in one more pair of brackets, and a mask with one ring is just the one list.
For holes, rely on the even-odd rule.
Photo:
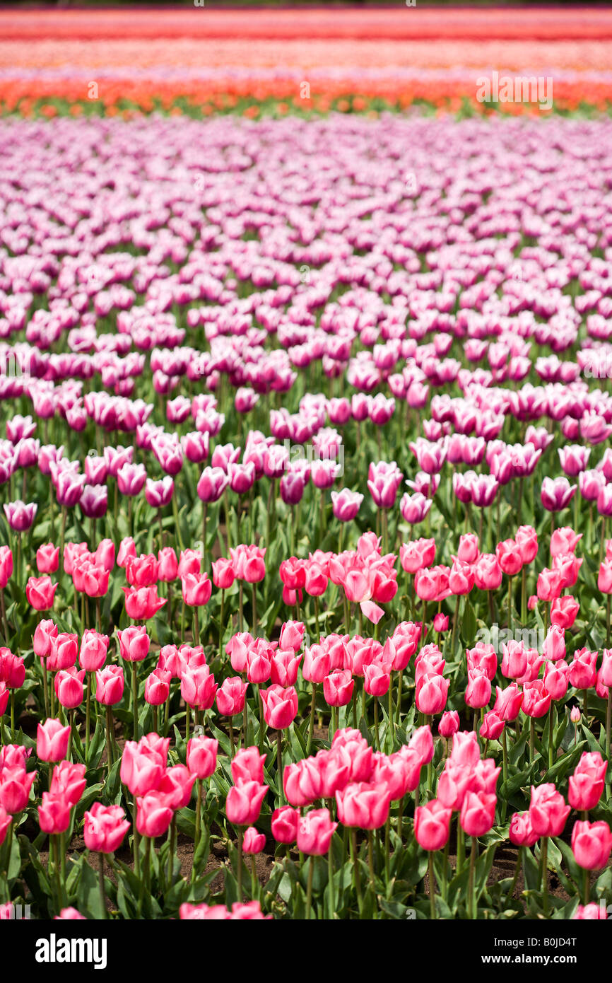
{"label": "pink and purple-white tulip beds in front of the orange rows", "polygon": [[609,115],[69,88],[0,119],[0,919],[607,918]]}

